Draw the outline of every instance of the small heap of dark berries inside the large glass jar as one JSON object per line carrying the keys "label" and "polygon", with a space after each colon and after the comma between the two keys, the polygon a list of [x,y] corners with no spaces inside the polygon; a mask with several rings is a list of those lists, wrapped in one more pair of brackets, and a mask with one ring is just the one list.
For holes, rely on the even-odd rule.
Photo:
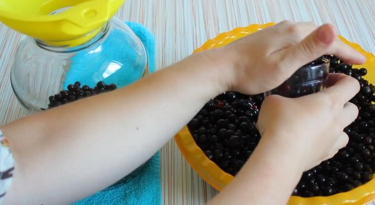
{"label": "small heap of dark berries inside the large glass jar", "polygon": [[69,84],[66,90],[61,90],[59,93],[49,96],[48,109],[116,88],[115,84],[105,85],[103,81],[99,81],[94,88],[90,88],[87,85],[80,87],[80,82],[75,82],[74,84]]}

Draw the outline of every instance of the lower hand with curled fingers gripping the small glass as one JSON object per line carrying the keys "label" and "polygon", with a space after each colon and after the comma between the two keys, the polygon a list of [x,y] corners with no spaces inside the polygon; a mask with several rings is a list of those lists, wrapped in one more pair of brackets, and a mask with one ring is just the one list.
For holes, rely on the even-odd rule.
{"label": "lower hand with curled fingers gripping the small glass", "polygon": [[347,102],[358,91],[358,82],[344,74],[329,74],[327,89],[299,98],[270,95],[257,122],[262,144],[308,170],[333,157],[348,142],[343,129],[358,115]]}

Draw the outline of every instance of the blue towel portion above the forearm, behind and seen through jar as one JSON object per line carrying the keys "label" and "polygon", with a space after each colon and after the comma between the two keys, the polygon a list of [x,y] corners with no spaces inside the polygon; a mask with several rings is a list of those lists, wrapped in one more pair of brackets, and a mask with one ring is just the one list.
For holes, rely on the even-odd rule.
{"label": "blue towel portion above the forearm, behind and seen through jar", "polygon": [[[142,41],[147,53],[148,72],[155,71],[155,38],[143,25],[135,22],[126,22],[133,32]],[[103,80],[105,83],[115,83],[118,87],[128,85],[143,74],[144,64],[137,61],[138,56],[131,48],[130,43],[123,43],[130,34],[117,29],[111,30],[105,41],[89,52],[77,52],[70,60],[70,68],[65,74],[63,87],[74,84],[79,80],[81,85],[94,87]],[[118,45],[122,43],[121,45]],[[128,50],[128,52],[126,52]],[[100,51],[100,52],[96,52]],[[110,59],[110,60],[108,60]],[[122,67],[122,69],[119,69]]]}

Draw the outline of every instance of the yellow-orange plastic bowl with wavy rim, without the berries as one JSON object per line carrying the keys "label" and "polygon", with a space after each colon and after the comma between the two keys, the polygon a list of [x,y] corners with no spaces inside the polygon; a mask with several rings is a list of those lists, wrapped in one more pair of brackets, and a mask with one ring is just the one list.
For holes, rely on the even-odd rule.
{"label": "yellow-orange plastic bowl with wavy rim, without the berries", "polygon": [[[256,32],[265,27],[271,26],[274,23],[267,24],[252,24],[247,27],[235,28],[229,32],[221,33],[213,39],[206,41],[200,48],[194,50],[194,53],[208,50],[210,48],[224,46],[238,38]],[[367,61],[362,65],[354,67],[365,67],[368,70],[366,80],[375,83],[375,56],[371,53],[364,51],[358,44],[352,43],[339,36],[340,39],[353,47],[354,49],[361,52]],[[228,173],[222,171],[214,162],[210,161],[203,153],[203,151],[195,144],[190,132],[187,127],[184,127],[177,135],[174,140],[181,151],[186,161],[191,167],[198,173],[198,175],[204,179],[213,188],[220,191],[222,190],[232,179]],[[361,185],[349,192],[339,193],[328,197],[311,197],[302,198],[291,196],[289,199],[289,205],[342,205],[342,204],[365,204],[375,199],[375,178]]]}

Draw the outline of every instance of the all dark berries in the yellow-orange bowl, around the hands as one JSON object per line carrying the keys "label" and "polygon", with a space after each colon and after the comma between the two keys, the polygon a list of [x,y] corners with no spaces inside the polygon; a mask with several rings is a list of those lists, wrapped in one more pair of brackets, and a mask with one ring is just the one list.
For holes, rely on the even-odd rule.
{"label": "all dark berries in the yellow-orange bowl, around the hands", "polygon": [[[292,192],[294,196],[347,192],[370,181],[375,173],[375,86],[363,79],[367,74],[365,68],[353,68],[333,55],[321,56],[310,65],[323,58],[329,60],[330,73],[344,73],[359,81],[360,91],[350,100],[358,107],[359,114],[344,129],[349,136],[346,147],[304,172]],[[209,100],[187,124],[206,157],[232,176],[238,173],[260,140],[255,123],[263,99],[263,94],[225,92]]]}

